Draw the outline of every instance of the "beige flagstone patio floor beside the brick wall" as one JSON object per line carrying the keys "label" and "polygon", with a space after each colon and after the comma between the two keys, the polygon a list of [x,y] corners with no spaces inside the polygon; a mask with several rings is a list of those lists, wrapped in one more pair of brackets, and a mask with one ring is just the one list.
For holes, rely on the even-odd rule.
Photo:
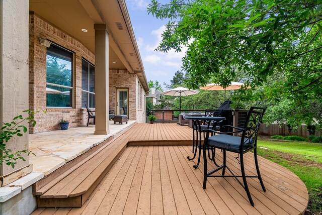
{"label": "beige flagstone patio floor beside the brick wall", "polygon": [[29,151],[36,155],[29,155],[29,163],[33,165],[33,172],[48,175],[68,161],[136,123],[136,121],[128,121],[127,124],[120,125],[113,124],[113,121],[109,122],[110,133],[107,135],[95,135],[95,125],[69,128],[66,131],[30,134]]}

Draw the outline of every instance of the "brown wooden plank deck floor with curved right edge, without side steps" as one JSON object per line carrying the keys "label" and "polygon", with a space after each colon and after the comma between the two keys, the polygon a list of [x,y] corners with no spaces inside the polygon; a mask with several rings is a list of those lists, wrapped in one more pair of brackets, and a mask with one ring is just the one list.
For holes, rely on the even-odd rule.
{"label": "brown wooden plank deck floor with curved right edge, without side steps", "polygon": [[[187,126],[138,124],[124,135],[127,138],[122,142],[139,145],[143,141],[144,146],[126,147],[82,207],[38,208],[33,214],[300,214],[307,206],[304,183],[261,157],[267,191],[263,192],[257,179],[248,179],[255,207],[233,178],[208,178],[203,190],[203,163],[193,169],[196,159],[187,160],[191,146],[175,145],[175,140],[191,142],[192,130]],[[253,154],[246,155],[245,161],[250,161],[246,172],[255,174]],[[219,161],[221,156],[217,152]],[[227,163],[239,173],[234,154],[228,153]]]}

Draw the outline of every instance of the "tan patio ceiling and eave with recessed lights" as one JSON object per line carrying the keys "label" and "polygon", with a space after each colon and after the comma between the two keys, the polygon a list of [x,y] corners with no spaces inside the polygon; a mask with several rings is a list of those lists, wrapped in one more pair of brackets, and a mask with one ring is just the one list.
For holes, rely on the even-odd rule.
{"label": "tan patio ceiling and eave with recessed lights", "polygon": [[[143,87],[148,89],[124,0],[29,0],[29,11],[78,39],[93,53],[94,24],[106,24],[110,43],[109,68],[137,73]],[[88,32],[83,32],[82,29],[87,29]]]}

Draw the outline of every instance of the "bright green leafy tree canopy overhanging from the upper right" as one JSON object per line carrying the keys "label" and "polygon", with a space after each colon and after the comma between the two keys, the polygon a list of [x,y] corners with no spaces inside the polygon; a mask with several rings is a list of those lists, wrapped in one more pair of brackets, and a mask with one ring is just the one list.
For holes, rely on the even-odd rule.
{"label": "bright green leafy tree canopy overhanging from the upper right", "polygon": [[157,50],[188,47],[182,60],[188,87],[226,86],[239,72],[253,89],[236,90],[235,103],[287,99],[291,109],[305,110],[322,100],[321,8],[314,0],[152,0],[148,12],[172,19]]}

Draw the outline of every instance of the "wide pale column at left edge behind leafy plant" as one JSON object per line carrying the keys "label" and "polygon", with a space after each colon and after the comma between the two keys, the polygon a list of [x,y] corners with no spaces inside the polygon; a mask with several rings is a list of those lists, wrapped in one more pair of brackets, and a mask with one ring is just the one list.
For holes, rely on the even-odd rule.
{"label": "wide pale column at left edge behind leafy plant", "polygon": [[[1,1],[0,3],[0,124],[28,109],[28,51],[29,51],[29,1]],[[24,113],[24,117],[28,114]],[[28,127],[27,123],[24,123]],[[13,137],[7,148],[13,152],[28,147],[28,133]],[[26,161],[18,160],[15,168],[0,166],[3,185],[31,171],[27,154]],[[29,168],[26,168],[28,167]],[[0,185],[1,186],[1,185]]]}

